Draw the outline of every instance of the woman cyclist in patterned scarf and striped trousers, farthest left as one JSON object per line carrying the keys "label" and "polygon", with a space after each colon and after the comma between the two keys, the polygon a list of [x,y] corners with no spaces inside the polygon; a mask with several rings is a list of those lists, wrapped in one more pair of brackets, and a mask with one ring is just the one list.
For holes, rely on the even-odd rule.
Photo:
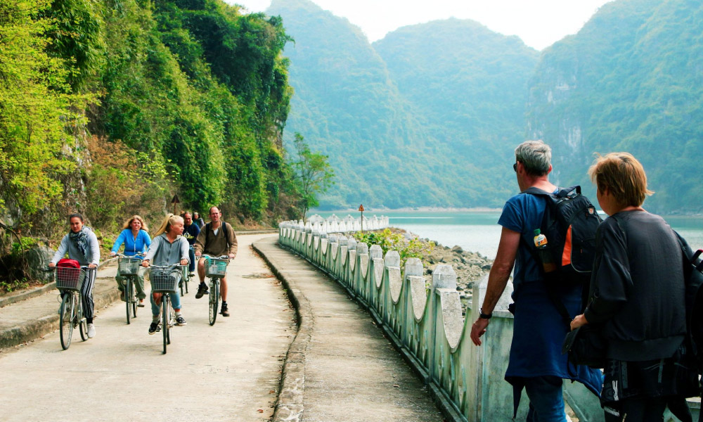
{"label": "woman cyclist in patterned scarf and striped trousers, farthest left", "polygon": [[[77,260],[82,267],[96,268],[100,262],[100,245],[98,238],[89,226],[83,225],[83,216],[72,214],[68,216],[71,230],[63,236],[58,250],[53,255],[49,268],[56,267],[56,262],[63,258],[68,252],[70,260]],[[83,312],[88,323],[88,338],[95,337],[95,326],[93,325],[93,286],[95,286],[95,276],[97,271],[86,271],[86,279],[81,287],[81,300],[83,302]]]}

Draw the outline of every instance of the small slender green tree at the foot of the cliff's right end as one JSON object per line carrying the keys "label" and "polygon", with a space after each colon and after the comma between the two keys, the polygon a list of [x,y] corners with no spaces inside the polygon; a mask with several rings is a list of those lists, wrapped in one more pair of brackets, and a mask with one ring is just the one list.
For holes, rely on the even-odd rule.
{"label": "small slender green tree at the foot of the cliff's right end", "polygon": [[327,161],[327,155],[310,151],[305,139],[298,132],[295,132],[295,151],[298,159],[292,164],[301,193],[302,218],[305,219],[307,210],[319,205],[317,194],[325,193],[327,188],[335,184],[335,170]]}

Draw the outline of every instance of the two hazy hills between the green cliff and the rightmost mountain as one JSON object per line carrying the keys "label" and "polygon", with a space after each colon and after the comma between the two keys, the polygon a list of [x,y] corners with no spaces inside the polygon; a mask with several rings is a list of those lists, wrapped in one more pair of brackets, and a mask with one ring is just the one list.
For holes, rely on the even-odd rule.
{"label": "two hazy hills between the green cliff and the rightmost mountain", "polygon": [[324,207],[502,205],[524,136],[537,52],[471,21],[401,28],[369,44],[309,0],[273,0],[295,43],[285,138],[329,155]]}

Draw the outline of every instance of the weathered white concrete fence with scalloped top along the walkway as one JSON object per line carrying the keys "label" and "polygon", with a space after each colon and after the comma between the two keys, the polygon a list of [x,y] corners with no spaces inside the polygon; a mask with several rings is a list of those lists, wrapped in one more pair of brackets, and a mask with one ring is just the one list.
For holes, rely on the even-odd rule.
{"label": "weathered white concrete fence with scalloped top along the walkway", "polygon": [[[387,219],[383,221],[387,226]],[[364,224],[366,229],[366,223]],[[387,337],[424,378],[431,394],[453,421],[510,421],[512,387],[503,379],[512,340],[512,314],[508,312],[512,284],[494,311],[484,344],[470,339],[478,307],[462,316],[456,274],[440,264],[425,288],[425,269],[410,258],[401,269],[396,251],[383,256],[378,245],[357,243],[342,231],[314,223],[283,222],[279,243],[305,257],[338,281],[368,308]],[[473,298],[483,301],[487,277],[476,283]],[[598,398],[580,383],[565,383],[565,399],[582,422],[602,421]],[[517,420],[527,414],[523,394]]]}

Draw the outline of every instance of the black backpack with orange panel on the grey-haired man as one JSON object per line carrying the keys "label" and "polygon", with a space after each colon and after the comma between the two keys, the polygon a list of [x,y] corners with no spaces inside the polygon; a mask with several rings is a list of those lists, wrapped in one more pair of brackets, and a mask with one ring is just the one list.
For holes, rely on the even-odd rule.
{"label": "black backpack with orange panel on the grey-haired man", "polygon": [[[595,231],[598,230],[602,219],[591,200],[581,195],[581,186],[560,188],[557,193],[533,187],[528,188],[525,193],[543,196],[547,200],[539,227],[541,234],[547,238],[546,248],[538,250],[533,242],[527,242],[524,236],[521,238],[527,243],[528,250],[540,268],[547,283],[550,300],[568,324],[572,317],[555,290],[562,286],[581,286],[582,304],[586,304],[595,260]],[[555,271],[544,271],[543,254],[556,264]]]}

